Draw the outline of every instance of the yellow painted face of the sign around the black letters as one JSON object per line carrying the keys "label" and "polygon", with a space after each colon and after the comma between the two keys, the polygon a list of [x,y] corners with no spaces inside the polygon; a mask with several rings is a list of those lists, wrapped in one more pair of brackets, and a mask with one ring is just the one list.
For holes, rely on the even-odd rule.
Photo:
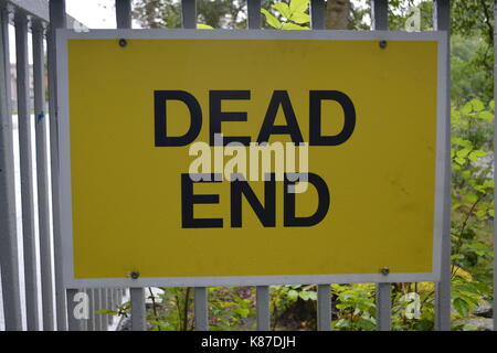
{"label": "yellow painted face of the sign around the black letters", "polygon": [[[436,152],[434,41],[68,40],[68,88],[75,278],[430,272]],[[223,122],[225,136],[256,140],[275,89],[288,90],[308,140],[310,89],[336,89],[355,104],[356,129],[340,146],[310,147],[309,171],[328,184],[326,218],[264,228],[243,201],[242,228],[230,227],[229,182],[195,184],[220,204],[195,205],[197,217],[223,228],[181,228],[181,173],[188,147],[155,147],[154,90],[182,89],[201,104],[209,137],[209,90],[250,89],[247,111]],[[188,110],[168,106],[168,128],[181,135]],[[279,113],[281,114],[281,113]],[[326,103],[324,131],[337,132],[341,109]],[[278,116],[278,119],[282,117]],[[187,121],[187,122],[186,122]],[[279,120],[277,120],[279,121]],[[271,141],[277,141],[273,136]],[[288,141],[287,138],[281,139]],[[251,182],[260,200],[262,183]],[[297,211],[316,208],[297,194]]]}

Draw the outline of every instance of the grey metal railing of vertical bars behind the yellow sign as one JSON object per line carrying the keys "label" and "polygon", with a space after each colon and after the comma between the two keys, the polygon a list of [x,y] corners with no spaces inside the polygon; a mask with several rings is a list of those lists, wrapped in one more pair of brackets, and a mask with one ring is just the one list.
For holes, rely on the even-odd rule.
{"label": "grey metal railing of vertical bars behind the yellow sign", "polygon": [[[450,1],[434,0],[435,30],[450,30]],[[56,119],[56,72],[55,72],[55,43],[54,30],[72,28],[74,20],[65,13],[64,0],[45,1],[0,1],[0,267],[3,290],[3,312],[7,330],[21,330],[21,296],[25,296],[25,313],[28,330],[39,330],[40,322],[38,306],[38,272],[35,237],[39,236],[39,258],[41,269],[41,307],[43,330],[106,330],[110,319],[106,315],[95,314],[104,308],[113,308],[123,301],[121,289],[87,289],[84,292],[89,298],[88,320],[77,320],[74,317],[78,290],[66,289],[62,284],[61,232],[59,228],[59,156],[57,156],[57,119]],[[197,26],[195,0],[182,0],[182,25],[186,29]],[[372,0],[372,29],[388,30],[388,0]],[[311,29],[325,29],[325,0],[310,0]],[[21,201],[22,201],[22,233],[15,226],[15,194],[14,194],[14,141],[12,139],[12,108],[10,104],[10,54],[8,26],[12,22],[15,26],[17,47],[17,90],[18,90],[18,119],[20,136],[20,171],[21,171]],[[130,0],[116,0],[117,28],[131,28]],[[261,0],[247,0],[247,28],[261,29]],[[33,46],[33,78],[34,103],[29,97],[29,61],[28,61],[28,31],[32,33]],[[44,40],[46,34],[46,60],[49,81],[49,117],[46,124],[45,111],[45,54]],[[448,45],[448,44],[447,44]],[[448,53],[448,52],[447,52]],[[447,57],[447,65],[448,65]],[[450,77],[447,77],[450,79]],[[447,89],[450,85],[447,84]],[[450,94],[447,92],[447,97]],[[34,109],[35,145],[31,139],[31,129]],[[450,109],[445,117],[450,122]],[[450,133],[450,124],[447,133]],[[49,133],[50,131],[50,133]],[[447,135],[450,136],[450,135]],[[50,145],[49,145],[50,141]],[[450,140],[446,141],[450,151]],[[35,149],[36,178],[33,176],[31,153]],[[450,156],[445,158],[450,170]],[[450,173],[445,175],[446,188],[451,185]],[[34,202],[34,188],[38,190],[38,202]],[[50,191],[52,190],[52,192]],[[450,195],[450,190],[445,190]],[[450,203],[450,197],[444,200]],[[38,214],[35,210],[38,208]],[[52,212],[50,210],[52,208]],[[436,314],[435,328],[451,330],[451,215],[450,205],[446,204],[443,223],[443,254],[442,278],[436,284]],[[35,229],[38,217],[38,231]],[[51,229],[50,224],[53,224]],[[51,232],[52,231],[52,232]],[[19,255],[18,236],[22,234],[24,254],[24,284],[25,290],[20,290],[19,284]],[[52,246],[53,242],[53,246]],[[496,238],[497,242],[497,238]],[[496,243],[497,244],[497,243]],[[29,255],[29,256],[27,256]],[[52,259],[54,268],[52,272]],[[53,286],[54,278],[54,286]],[[54,288],[54,290],[53,290]],[[318,330],[330,330],[331,324],[331,290],[330,285],[318,286],[317,322]],[[377,285],[377,321],[378,330],[391,330],[391,284]],[[145,293],[144,288],[130,288],[133,330],[146,329]],[[55,303],[55,308],[54,304]],[[194,328],[209,330],[208,318],[208,289],[194,288]],[[494,310],[495,312],[496,310]],[[56,315],[54,315],[54,312]],[[67,314],[68,313],[68,314]],[[256,287],[256,323],[257,330],[269,330],[269,287]],[[497,328],[497,325],[495,325]]]}

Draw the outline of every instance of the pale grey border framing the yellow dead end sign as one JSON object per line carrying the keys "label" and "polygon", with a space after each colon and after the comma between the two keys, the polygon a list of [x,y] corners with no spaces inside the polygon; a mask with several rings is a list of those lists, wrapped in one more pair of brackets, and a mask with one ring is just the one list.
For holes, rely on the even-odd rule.
{"label": "pale grey border framing the yellow dead end sign", "polygon": [[[75,32],[56,30],[56,97],[60,183],[60,232],[62,246],[63,282],[65,288],[105,287],[212,287],[212,286],[268,286],[268,285],[327,285],[355,282],[421,282],[438,281],[442,268],[443,215],[450,203],[445,194],[447,183],[446,160],[450,130],[447,129],[447,38],[446,31],[272,31],[272,30],[91,30]],[[68,122],[67,40],[71,39],[144,39],[144,40],[332,40],[332,41],[435,41],[437,42],[437,101],[436,101],[436,169],[435,208],[433,227],[433,256],[431,272],[360,274],[360,275],[288,275],[288,276],[216,276],[216,277],[144,277],[131,278],[74,278],[71,152]],[[450,164],[448,164],[450,165]],[[331,256],[331,253],[330,253]]]}

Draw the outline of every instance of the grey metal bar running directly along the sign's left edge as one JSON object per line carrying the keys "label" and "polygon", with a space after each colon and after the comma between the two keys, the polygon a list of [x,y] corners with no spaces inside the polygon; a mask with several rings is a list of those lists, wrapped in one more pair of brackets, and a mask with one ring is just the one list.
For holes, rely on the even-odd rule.
{"label": "grey metal bar running directly along the sign's left edge", "polygon": [[56,100],[56,58],[55,29],[66,28],[65,0],[50,0],[50,26],[47,38],[49,62],[49,111],[50,111],[50,160],[52,169],[52,217],[53,217],[53,248],[55,263],[55,308],[57,330],[67,330],[66,297],[62,274],[62,244],[60,227],[60,190],[59,190],[59,124]]}

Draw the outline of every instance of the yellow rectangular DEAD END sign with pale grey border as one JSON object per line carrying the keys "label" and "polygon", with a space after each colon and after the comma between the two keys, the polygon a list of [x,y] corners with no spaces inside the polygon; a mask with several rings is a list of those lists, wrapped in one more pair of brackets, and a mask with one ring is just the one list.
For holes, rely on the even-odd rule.
{"label": "yellow rectangular DEAD END sign with pale grey border", "polygon": [[446,54],[443,32],[57,31],[65,285],[436,280]]}

